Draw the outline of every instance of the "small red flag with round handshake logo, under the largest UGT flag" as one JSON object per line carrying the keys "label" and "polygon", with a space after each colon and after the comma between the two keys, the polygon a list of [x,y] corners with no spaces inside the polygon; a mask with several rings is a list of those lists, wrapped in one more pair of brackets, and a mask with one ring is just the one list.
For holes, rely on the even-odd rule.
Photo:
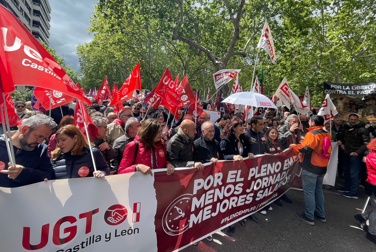
{"label": "small red flag with round handshake logo, under the largest UGT flag", "polygon": [[50,98],[51,109],[74,101],[74,98],[70,95],[65,95],[62,92],[55,90],[43,89],[41,87],[35,88],[34,95],[46,110],[50,110]]}

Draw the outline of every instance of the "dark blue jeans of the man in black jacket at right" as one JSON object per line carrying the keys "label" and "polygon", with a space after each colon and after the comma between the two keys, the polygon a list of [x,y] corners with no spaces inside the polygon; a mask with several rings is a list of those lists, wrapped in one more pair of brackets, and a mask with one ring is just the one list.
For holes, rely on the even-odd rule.
{"label": "dark blue jeans of the man in black jacket at right", "polygon": [[343,174],[345,177],[345,188],[353,195],[358,195],[359,180],[361,173],[362,156],[353,157],[343,154]]}

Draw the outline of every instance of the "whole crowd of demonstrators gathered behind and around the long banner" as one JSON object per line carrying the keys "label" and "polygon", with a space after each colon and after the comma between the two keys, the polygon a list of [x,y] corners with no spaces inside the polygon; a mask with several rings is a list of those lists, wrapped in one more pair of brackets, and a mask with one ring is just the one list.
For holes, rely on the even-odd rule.
{"label": "whole crowd of demonstrators gathered behind and around the long banner", "polygon": [[[72,125],[74,104],[64,106],[64,110],[52,110],[49,117],[33,111],[29,102],[15,102],[16,113],[22,120],[21,126],[12,128],[15,165],[11,166],[9,162],[5,138],[2,137],[0,161],[5,169],[0,171],[0,186],[12,188],[77,177],[101,179],[130,172],[153,176],[153,170],[157,168],[166,168],[167,175],[171,175],[176,167],[201,171],[208,162],[253,159],[255,155],[278,154],[292,147],[302,153],[300,166],[306,204],[305,211],[296,215],[314,225],[315,218],[326,222],[322,187],[328,164],[328,157],[323,156],[323,142],[327,137],[337,141],[341,149],[338,174],[344,177],[345,185],[337,191],[343,192],[344,197],[358,199],[362,158],[367,154],[371,131],[356,114],[350,115],[347,122],[336,117],[324,124],[322,116],[307,118],[282,107],[281,111],[267,110],[266,117],[253,116],[247,121],[240,112],[224,114],[213,123],[210,113],[205,111],[196,123],[185,110],[179,110],[176,118],[169,117],[170,111],[164,107],[148,109],[130,100],[123,103],[124,109],[117,114],[114,108],[108,107],[108,101],[98,104],[94,98],[89,99],[92,105],[86,109],[98,127],[92,142]],[[204,107],[211,108],[211,104],[204,104]],[[366,165],[369,173],[365,182],[372,207],[355,218],[367,231],[367,238],[376,243],[374,141],[368,144],[370,154],[366,157]],[[281,199],[292,203],[287,195],[274,203],[283,206]],[[267,210],[273,210],[271,204],[260,209],[259,213],[267,214]],[[248,218],[261,223],[254,214]],[[369,228],[365,224],[367,220]],[[246,220],[238,223],[245,226]],[[222,231],[231,236],[235,224]],[[212,240],[212,237],[206,239]]]}

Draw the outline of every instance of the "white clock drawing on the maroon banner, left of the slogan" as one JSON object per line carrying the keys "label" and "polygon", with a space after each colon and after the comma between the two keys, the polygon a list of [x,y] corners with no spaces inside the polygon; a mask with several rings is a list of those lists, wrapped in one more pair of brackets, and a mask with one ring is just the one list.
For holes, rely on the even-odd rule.
{"label": "white clock drawing on the maroon banner, left of the slogan", "polygon": [[179,235],[189,228],[192,196],[183,194],[168,206],[162,217],[162,227],[166,234]]}

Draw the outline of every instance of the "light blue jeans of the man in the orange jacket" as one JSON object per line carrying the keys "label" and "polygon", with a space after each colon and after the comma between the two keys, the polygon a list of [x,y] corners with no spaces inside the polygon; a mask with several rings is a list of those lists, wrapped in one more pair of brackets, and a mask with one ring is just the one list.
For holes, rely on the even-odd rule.
{"label": "light blue jeans of the man in the orange jacket", "polygon": [[304,213],[311,220],[313,220],[315,212],[319,217],[325,218],[323,180],[324,175],[310,173],[304,169],[302,171]]}

